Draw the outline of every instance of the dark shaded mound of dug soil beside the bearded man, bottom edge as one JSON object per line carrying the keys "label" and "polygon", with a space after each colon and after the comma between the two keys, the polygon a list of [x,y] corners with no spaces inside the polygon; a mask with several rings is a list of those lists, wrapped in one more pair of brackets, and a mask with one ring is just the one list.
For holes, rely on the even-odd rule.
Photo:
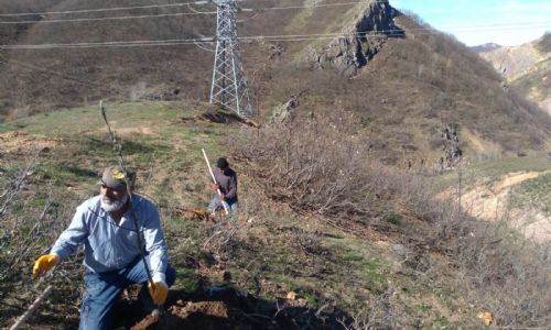
{"label": "dark shaded mound of dug soil beside the bearded man, bottom edge", "polygon": [[[310,324],[314,329],[335,329],[342,327],[341,321],[350,320],[329,305],[317,310],[311,309],[305,299],[299,299],[295,295],[268,301],[226,287],[210,287],[194,297],[177,295],[183,297],[169,301],[166,311],[149,315],[138,322],[134,320],[134,324],[122,327],[133,330],[302,329]],[[128,315],[133,312],[136,310],[125,311]]]}

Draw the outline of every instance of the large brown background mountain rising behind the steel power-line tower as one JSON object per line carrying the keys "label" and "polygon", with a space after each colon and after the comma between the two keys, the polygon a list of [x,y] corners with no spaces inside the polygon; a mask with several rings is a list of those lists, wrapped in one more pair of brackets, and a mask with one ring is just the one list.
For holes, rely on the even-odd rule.
{"label": "large brown background mountain rising behind the steel power-line tower", "polygon": [[[133,3],[121,1],[120,7]],[[304,2],[306,7],[312,3]],[[500,77],[488,65],[424,23],[401,15],[385,2],[374,3],[335,6],[331,10],[269,10],[289,6],[284,0],[247,3],[252,9],[268,10],[241,13],[240,35],[342,32],[349,35],[349,45],[361,50],[341,50],[332,37],[245,40],[244,64],[262,118],[270,118],[290,99],[296,99],[295,113],[357,113],[365,123],[363,134],[372,139],[374,154],[398,166],[408,160],[435,165],[442,155],[440,131],[446,124],[460,128],[462,148],[471,157],[545,150],[551,120],[501,87]],[[31,2],[28,6],[28,10],[33,9]],[[54,1],[47,10],[90,7],[106,8],[109,2]],[[86,16],[162,15],[173,11],[121,10]],[[179,12],[188,10],[180,8]],[[45,20],[58,18],[47,15]],[[82,14],[62,16],[73,18]],[[196,14],[35,23],[25,24],[24,33],[11,37],[22,45],[192,38],[213,35],[214,21],[213,15]],[[389,29],[393,32],[377,33]],[[418,29],[431,33],[418,34]],[[354,36],[366,31],[372,35]],[[341,51],[346,55],[341,56]],[[2,57],[0,108],[7,118],[87,105],[99,98],[206,100],[213,63],[212,53],[193,44],[8,50]],[[360,61],[355,62],[356,57]]]}

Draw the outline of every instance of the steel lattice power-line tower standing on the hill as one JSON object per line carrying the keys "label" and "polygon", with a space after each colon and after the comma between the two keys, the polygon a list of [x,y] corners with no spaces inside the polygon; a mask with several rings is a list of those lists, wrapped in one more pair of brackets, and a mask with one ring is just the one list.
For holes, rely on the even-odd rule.
{"label": "steel lattice power-line tower standing on the hill", "polygon": [[219,103],[240,117],[250,117],[252,107],[237,41],[237,3],[236,0],[215,0],[214,2],[217,6],[216,53],[210,103]]}

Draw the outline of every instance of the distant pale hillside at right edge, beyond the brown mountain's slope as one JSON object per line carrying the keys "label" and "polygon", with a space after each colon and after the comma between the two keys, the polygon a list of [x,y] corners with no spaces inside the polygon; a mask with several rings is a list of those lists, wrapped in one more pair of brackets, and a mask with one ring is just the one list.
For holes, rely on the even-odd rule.
{"label": "distant pale hillside at right edge, beyond the brown mountain's slope", "polygon": [[551,35],[517,47],[501,47],[480,53],[508,84],[551,116]]}

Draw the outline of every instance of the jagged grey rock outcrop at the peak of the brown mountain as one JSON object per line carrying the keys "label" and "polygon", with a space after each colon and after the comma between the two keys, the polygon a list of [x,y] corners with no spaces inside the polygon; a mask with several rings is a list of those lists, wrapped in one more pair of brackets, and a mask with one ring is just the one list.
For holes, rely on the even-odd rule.
{"label": "jagged grey rock outcrop at the peak of the brown mountain", "polygon": [[311,47],[306,61],[314,67],[334,67],[344,75],[354,76],[382,47],[391,35],[401,35],[395,26],[397,11],[388,1],[372,0],[361,4],[354,23],[344,28],[321,50]]}

